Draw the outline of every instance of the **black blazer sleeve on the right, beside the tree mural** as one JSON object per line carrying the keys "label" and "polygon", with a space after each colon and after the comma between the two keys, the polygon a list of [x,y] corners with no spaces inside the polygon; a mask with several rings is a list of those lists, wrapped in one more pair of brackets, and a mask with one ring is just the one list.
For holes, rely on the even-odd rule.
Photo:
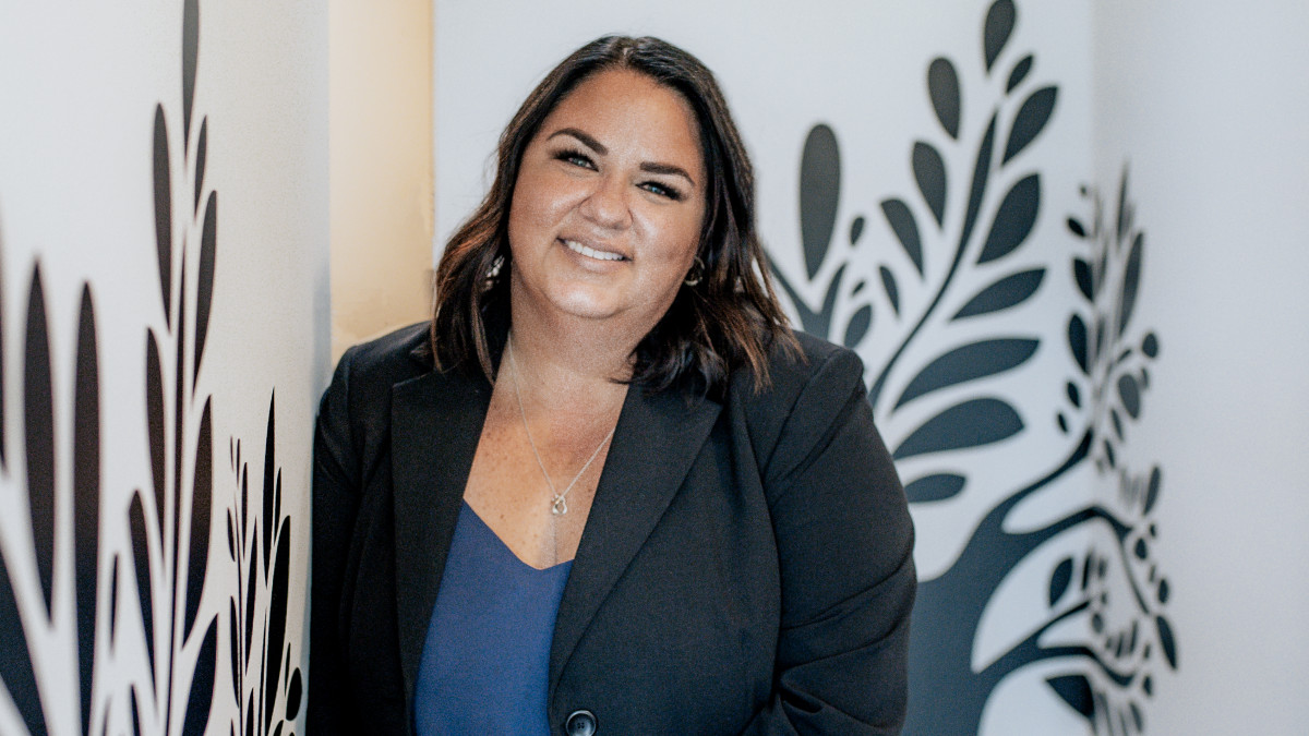
{"label": "black blazer sleeve on the right, beside the tree mural", "polygon": [[855,354],[813,371],[762,473],[781,626],[771,701],[745,733],[899,733],[914,526]]}

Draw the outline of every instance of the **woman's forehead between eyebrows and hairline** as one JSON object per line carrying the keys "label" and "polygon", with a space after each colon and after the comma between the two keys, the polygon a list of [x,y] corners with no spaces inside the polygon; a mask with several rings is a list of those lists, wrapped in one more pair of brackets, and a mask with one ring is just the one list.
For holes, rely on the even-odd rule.
{"label": "woman's forehead between eyebrows and hairline", "polygon": [[[605,69],[584,79],[555,105],[537,132],[577,127],[606,147],[610,138],[690,147],[699,152],[699,126],[682,93],[632,69]],[[698,158],[699,156],[696,156]]]}

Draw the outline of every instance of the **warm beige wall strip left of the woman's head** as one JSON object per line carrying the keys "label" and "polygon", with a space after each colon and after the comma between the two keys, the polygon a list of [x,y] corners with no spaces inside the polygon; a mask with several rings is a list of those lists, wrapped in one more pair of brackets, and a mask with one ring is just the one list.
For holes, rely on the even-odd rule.
{"label": "warm beige wall strip left of the woman's head", "polygon": [[330,7],[332,359],[423,320],[432,268],[432,5]]}

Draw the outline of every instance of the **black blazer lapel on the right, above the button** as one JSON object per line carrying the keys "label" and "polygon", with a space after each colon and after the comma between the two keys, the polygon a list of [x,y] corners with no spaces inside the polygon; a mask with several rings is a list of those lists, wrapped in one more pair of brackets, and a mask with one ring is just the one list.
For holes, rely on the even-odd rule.
{"label": "black blazer lapel on the right, above the button", "polygon": [[673,502],[721,409],[707,398],[689,401],[682,392],[627,392],[559,602],[551,697],[583,633]]}

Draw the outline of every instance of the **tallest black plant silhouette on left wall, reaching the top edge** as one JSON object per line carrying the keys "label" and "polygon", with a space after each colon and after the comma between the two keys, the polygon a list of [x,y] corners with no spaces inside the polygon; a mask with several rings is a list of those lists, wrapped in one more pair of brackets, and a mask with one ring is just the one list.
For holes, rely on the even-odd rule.
{"label": "tallest black plant silhouette on left wall, reaching the top edge", "polygon": [[[208,335],[217,248],[217,193],[206,191],[208,119],[192,126],[199,5],[182,13],[182,149],[170,141],[164,105],[154,109],[154,221],[165,330],[145,330],[145,427],[149,491],[128,508],[132,563],[149,678],[131,688],[136,733],[203,733],[213,702],[217,621],[200,616],[213,507],[211,397],[198,389]],[[194,158],[187,153],[195,152]],[[177,161],[177,162],[174,162]],[[175,196],[181,169],[190,196]],[[199,233],[199,242],[192,233]],[[174,238],[181,236],[179,242]],[[177,248],[174,248],[177,245]],[[198,248],[195,248],[198,246]],[[194,250],[199,250],[198,254]],[[191,257],[188,259],[188,255]],[[188,299],[187,288],[195,289]],[[171,360],[171,364],[169,364]],[[199,647],[192,657],[186,652]],[[148,719],[148,720],[145,720]]]}

